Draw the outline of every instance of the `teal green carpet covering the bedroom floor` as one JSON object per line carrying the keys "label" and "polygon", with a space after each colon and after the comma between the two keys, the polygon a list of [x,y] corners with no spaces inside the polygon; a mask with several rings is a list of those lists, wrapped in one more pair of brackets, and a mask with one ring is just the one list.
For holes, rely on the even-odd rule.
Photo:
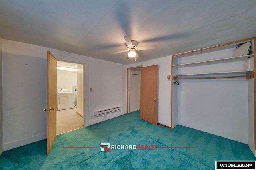
{"label": "teal green carpet covering the bedroom floor", "polygon": [[[158,145],[156,150],[100,151],[112,145]],[[96,146],[96,148],[62,148]],[[160,148],[194,146],[194,148]],[[155,126],[135,111],[56,137],[46,155],[46,140],[8,150],[0,156],[0,169],[215,169],[215,160],[256,160],[248,145],[178,125]]]}

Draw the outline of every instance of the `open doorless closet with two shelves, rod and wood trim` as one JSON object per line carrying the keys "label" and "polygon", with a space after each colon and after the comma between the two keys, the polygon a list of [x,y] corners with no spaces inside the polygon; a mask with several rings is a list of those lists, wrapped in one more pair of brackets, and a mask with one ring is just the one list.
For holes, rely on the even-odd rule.
{"label": "open doorless closet with two shelves, rod and wood trim", "polygon": [[248,144],[255,155],[254,38],[172,55],[171,127]]}

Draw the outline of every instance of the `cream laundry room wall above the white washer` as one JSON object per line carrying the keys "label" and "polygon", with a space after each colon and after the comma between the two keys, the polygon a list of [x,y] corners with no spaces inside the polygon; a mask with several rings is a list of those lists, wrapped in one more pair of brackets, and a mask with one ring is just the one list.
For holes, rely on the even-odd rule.
{"label": "cream laundry room wall above the white washer", "polygon": [[73,89],[76,86],[76,71],[57,69],[57,89]]}

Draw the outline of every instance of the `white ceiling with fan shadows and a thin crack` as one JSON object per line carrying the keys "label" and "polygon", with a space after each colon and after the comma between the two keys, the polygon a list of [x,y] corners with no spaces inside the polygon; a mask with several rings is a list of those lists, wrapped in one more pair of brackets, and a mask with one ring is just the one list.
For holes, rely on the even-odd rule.
{"label": "white ceiling with fan shadows and a thin crack", "polygon": [[131,64],[256,36],[256,0],[0,0],[0,36]]}

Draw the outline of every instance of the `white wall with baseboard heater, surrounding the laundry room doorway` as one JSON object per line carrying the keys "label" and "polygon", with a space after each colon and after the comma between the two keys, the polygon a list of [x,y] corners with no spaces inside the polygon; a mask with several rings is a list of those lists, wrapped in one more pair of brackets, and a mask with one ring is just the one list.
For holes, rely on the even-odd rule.
{"label": "white wall with baseboard heater, surrounding the laundry room doorway", "polygon": [[[89,67],[84,77],[90,82],[85,89],[89,95],[86,126],[125,113],[125,65],[5,39],[2,47],[4,150],[46,138],[46,113],[42,109],[46,107],[47,50],[57,59]],[[96,109],[115,105],[122,105],[122,111],[107,117],[89,116]]]}

